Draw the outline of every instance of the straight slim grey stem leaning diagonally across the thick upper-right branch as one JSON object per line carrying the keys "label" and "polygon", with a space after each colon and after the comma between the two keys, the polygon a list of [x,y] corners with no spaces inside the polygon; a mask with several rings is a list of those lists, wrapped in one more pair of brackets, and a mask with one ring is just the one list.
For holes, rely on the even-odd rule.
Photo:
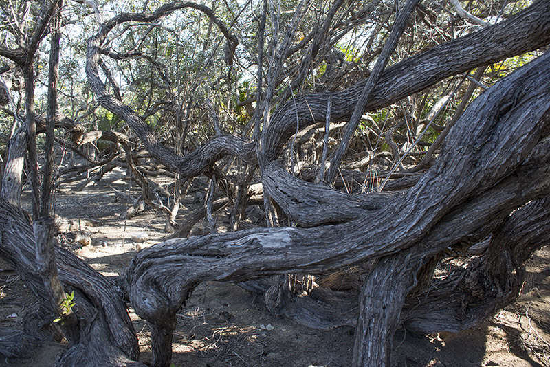
{"label": "straight slim grey stem leaning diagonally across the thick upper-right branch", "polygon": [[405,30],[410,13],[415,10],[419,1],[420,0],[408,0],[403,9],[401,9],[399,14],[397,15],[397,19],[393,24],[393,29],[390,36],[388,37],[388,41],[384,45],[384,49],[382,49],[380,58],[378,58],[378,60],[376,61],[376,65],[374,66],[373,71],[369,76],[369,79],[366,81],[361,96],[358,100],[358,104],[353,110],[353,115],[351,115],[349,122],[346,124],[346,128],[344,129],[344,136],[342,137],[342,142],[340,142],[340,145],[334,152],[331,162],[329,163],[329,173],[327,175],[327,181],[329,183],[332,183],[336,178],[336,173],[338,172],[337,168],[344,158],[344,154],[347,151],[353,133],[355,133],[355,130],[357,130],[359,126],[359,122],[366,108],[366,105],[371,100],[371,94],[373,93],[374,87],[380,79],[380,76],[382,76],[382,71],[384,71],[384,68],[388,63],[388,60],[393,53],[393,50],[397,46],[397,41],[399,41],[401,34]]}

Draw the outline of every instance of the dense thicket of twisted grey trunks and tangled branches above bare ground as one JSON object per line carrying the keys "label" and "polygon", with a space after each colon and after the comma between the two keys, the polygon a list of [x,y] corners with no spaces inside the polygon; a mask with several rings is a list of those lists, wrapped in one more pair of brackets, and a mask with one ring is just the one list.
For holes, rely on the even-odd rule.
{"label": "dense thicket of twisted grey trunks and tangled branches above bare ground", "polygon": [[[390,366],[401,324],[460,331],[509,304],[550,219],[550,1],[522,4],[1,2],[0,254],[65,320],[72,347],[58,365],[140,366],[129,299],[151,324],[152,366],[169,366],[175,315],[205,280],[241,282],[311,327],[356,326],[355,366]],[[56,171],[55,141],[89,164]],[[25,155],[32,220],[17,208]],[[172,192],[151,179],[151,156]],[[54,245],[50,192],[117,164],[140,183],[135,208],[175,233],[115,285]],[[177,223],[199,175],[206,208]],[[225,205],[231,231],[217,234],[212,211]],[[262,227],[238,230],[247,205],[261,205]],[[214,233],[179,238],[203,216]],[[467,267],[432,279],[479,243]],[[362,287],[331,289],[351,267]],[[309,297],[294,297],[302,284],[288,274]],[[74,313],[60,306],[67,288]]]}

